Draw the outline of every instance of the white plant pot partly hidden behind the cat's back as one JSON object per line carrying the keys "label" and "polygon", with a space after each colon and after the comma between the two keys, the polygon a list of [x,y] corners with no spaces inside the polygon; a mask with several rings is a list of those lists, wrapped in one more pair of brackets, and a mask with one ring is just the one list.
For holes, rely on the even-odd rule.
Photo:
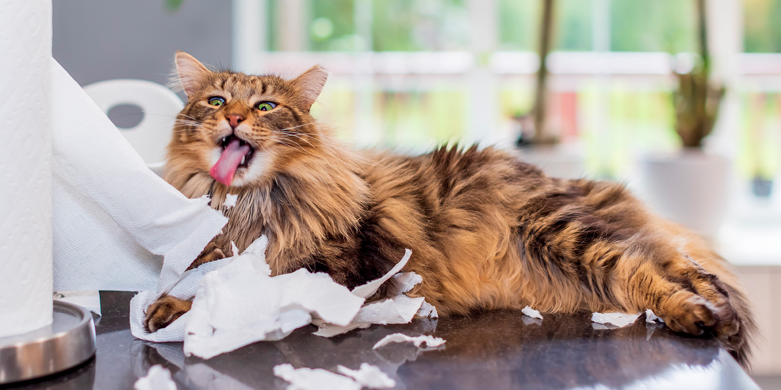
{"label": "white plant pot partly hidden behind the cat's back", "polygon": [[519,151],[519,158],[561,179],[580,179],[586,170],[585,158],[570,145],[526,147]]}

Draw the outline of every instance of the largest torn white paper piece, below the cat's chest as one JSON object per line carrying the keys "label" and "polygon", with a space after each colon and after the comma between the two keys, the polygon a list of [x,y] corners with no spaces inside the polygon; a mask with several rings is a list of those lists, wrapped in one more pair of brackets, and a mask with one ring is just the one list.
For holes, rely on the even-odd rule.
{"label": "largest torn white paper piece, below the cat's chest", "polygon": [[184,354],[212,358],[312,321],[347,325],[363,299],[324,273],[270,276],[265,257],[239,256],[201,278],[184,327]]}

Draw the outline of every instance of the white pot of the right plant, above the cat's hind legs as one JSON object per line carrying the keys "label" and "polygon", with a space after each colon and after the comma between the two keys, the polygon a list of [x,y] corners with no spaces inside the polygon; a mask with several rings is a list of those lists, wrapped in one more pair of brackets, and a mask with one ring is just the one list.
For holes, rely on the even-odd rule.
{"label": "white pot of the right plant, above the cat's hind legs", "polygon": [[713,238],[726,216],[729,158],[702,151],[640,161],[643,196],[665,218]]}

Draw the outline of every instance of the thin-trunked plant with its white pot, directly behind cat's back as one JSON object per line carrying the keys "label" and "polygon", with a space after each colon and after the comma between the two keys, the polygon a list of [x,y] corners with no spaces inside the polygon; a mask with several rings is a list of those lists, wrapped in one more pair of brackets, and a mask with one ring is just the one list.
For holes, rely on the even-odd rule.
{"label": "thin-trunked plant with its white pot, directly behind cat's back", "polygon": [[583,176],[583,157],[559,144],[559,137],[551,126],[551,121],[547,120],[549,99],[547,60],[551,52],[556,2],[543,0],[542,3],[540,43],[537,52],[540,68],[535,79],[534,107],[528,114],[513,115],[520,133],[516,145],[521,150],[522,160],[539,166],[548,176],[577,179]]}

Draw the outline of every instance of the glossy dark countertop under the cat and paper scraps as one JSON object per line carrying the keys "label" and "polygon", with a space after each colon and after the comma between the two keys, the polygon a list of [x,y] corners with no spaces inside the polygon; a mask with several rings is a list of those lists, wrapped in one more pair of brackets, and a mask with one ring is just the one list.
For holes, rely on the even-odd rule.
{"label": "glossy dark countertop under the cat and paper scraps", "polygon": [[[284,389],[276,364],[335,370],[371,363],[396,379],[397,389],[758,388],[713,339],[677,335],[643,317],[627,328],[595,329],[588,314],[515,311],[473,317],[374,325],[324,339],[298,329],[278,342],[256,342],[211,360],[185,358],[181,343],[144,342],[130,335],[128,307],[135,293],[101,292],[94,360],[66,374],[18,389],[131,389],[149,367],[162,364],[179,389]],[[385,335],[435,335],[444,349],[421,352],[411,344],[373,350]],[[441,348],[441,347],[440,347]]]}

